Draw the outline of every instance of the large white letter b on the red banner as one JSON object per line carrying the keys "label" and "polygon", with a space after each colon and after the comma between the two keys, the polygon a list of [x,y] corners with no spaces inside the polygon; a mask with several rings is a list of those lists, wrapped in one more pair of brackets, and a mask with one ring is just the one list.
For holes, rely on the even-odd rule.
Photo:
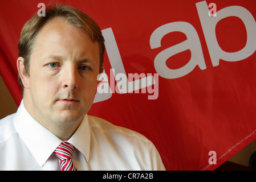
{"label": "large white letter b on the red banner", "polygon": [[[198,15],[202,24],[202,30],[213,67],[220,63],[220,59],[225,61],[240,61],[251,56],[256,50],[256,22],[250,11],[241,6],[229,6],[218,11],[218,16],[211,18],[207,15],[208,6],[205,1],[196,3]],[[229,16],[237,16],[245,24],[247,32],[246,46],[237,52],[225,52],[221,49],[216,38],[216,24]],[[234,38],[235,39],[235,38]]]}

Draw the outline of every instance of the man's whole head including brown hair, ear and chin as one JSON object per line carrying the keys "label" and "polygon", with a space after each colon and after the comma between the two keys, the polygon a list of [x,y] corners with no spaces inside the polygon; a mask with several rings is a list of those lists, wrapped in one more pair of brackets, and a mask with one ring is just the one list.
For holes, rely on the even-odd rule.
{"label": "man's whole head including brown hair, ear and chin", "polygon": [[104,39],[97,24],[64,5],[35,15],[19,42],[17,67],[29,113],[52,133],[78,127],[90,110],[102,71]]}

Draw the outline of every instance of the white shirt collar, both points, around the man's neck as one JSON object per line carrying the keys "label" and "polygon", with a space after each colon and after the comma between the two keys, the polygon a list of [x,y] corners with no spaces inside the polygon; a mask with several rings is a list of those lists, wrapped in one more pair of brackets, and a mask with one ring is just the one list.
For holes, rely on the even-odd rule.
{"label": "white shirt collar, both points, around the man's neck", "polygon": [[[23,100],[15,114],[14,126],[40,166],[46,163],[52,152],[63,142],[32,118],[26,110]],[[90,127],[87,115],[68,142],[82,152],[88,162],[90,154]]]}

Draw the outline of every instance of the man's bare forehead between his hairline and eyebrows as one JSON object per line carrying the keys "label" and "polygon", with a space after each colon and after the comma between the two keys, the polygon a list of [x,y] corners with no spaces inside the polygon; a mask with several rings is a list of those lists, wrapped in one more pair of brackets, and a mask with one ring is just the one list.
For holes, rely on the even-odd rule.
{"label": "man's bare forehead between his hairline and eyebrows", "polygon": [[92,42],[82,28],[68,23],[63,17],[49,20],[36,35],[33,52],[59,53],[68,56],[90,55],[99,61],[99,44]]}

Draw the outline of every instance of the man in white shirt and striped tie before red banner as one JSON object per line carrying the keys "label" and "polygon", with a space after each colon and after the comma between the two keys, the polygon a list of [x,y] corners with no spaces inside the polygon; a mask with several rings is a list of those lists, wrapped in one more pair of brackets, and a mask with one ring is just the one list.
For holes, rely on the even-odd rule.
{"label": "man in white shirt and striped tie before red banner", "polygon": [[143,135],[87,115],[104,38],[87,15],[67,5],[23,27],[17,67],[23,100],[0,121],[1,170],[164,170]]}

